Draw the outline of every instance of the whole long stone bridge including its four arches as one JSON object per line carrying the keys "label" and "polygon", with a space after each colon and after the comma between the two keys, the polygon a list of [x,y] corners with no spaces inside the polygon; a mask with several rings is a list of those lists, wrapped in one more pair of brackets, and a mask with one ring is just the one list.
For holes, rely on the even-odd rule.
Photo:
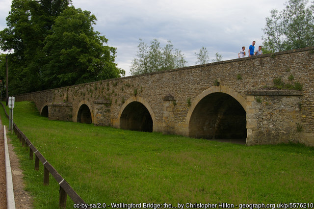
{"label": "whole long stone bridge including its four arches", "polygon": [[[33,101],[52,120],[247,145],[314,146],[313,81],[310,47],[23,94],[16,101]],[[289,90],[293,86],[299,90]]]}

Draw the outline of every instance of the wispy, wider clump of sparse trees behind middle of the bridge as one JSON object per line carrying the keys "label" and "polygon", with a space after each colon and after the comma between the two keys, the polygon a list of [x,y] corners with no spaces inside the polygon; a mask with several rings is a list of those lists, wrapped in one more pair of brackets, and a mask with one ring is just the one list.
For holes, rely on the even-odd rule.
{"label": "wispy, wider clump of sparse trees behind middle of the bridge", "polygon": [[150,46],[142,39],[139,40],[137,58],[133,59],[130,67],[131,75],[181,68],[186,65],[184,54],[178,49],[174,50],[171,41],[162,48],[157,39],[151,41]]}

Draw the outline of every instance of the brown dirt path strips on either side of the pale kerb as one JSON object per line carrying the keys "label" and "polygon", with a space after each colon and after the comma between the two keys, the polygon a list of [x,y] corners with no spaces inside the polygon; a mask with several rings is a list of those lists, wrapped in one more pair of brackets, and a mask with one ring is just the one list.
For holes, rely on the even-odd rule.
{"label": "brown dirt path strips on either side of the pale kerb", "polygon": [[[6,131],[8,131],[6,129]],[[15,155],[11,139],[7,137],[10,164],[12,171],[13,191],[16,209],[32,209],[32,198],[24,190],[23,171],[20,169],[19,159]],[[4,161],[4,137],[3,126],[0,121],[0,208],[6,208],[6,183],[5,183],[5,161]]]}

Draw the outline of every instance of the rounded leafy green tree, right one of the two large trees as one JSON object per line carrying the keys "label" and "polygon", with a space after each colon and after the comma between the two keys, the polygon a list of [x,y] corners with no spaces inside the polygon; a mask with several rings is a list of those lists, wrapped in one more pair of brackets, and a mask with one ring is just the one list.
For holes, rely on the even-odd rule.
{"label": "rounded leafy green tree, right one of the two large trees", "polygon": [[45,39],[43,80],[45,88],[120,77],[125,72],[114,63],[116,48],[94,31],[96,17],[74,7],[55,20],[52,34]]}

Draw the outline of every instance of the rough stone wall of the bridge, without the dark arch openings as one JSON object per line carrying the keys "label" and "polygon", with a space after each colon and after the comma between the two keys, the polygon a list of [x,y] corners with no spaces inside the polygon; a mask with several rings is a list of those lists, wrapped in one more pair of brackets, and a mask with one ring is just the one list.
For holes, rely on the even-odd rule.
{"label": "rough stone wall of the bridge, without the dark arch openings", "polygon": [[[303,89],[273,89],[275,78],[290,85],[299,82]],[[193,102],[202,92],[217,88],[246,111],[247,144],[298,141],[314,145],[313,80],[311,47],[34,92],[18,95],[16,101],[34,101],[39,111],[45,105],[69,104],[72,114],[67,112],[67,117],[75,122],[79,105],[86,101],[95,125],[120,128],[124,104],[138,98],[154,113],[153,131],[188,136]],[[49,117],[56,119],[52,114]]]}

